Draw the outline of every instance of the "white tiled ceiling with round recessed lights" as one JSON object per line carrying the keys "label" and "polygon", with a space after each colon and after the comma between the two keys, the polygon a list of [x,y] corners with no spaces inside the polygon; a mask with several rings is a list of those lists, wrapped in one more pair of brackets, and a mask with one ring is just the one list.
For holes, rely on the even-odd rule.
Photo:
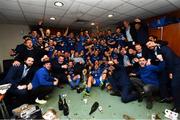
{"label": "white tiled ceiling with round recessed lights", "polygon": [[[55,1],[64,3],[54,6]],[[0,0],[0,23],[36,24],[43,19],[46,26],[90,27],[116,24],[124,19],[142,19],[180,9],[180,0]],[[113,14],[108,18],[108,14]],[[55,17],[55,21],[49,18]],[[75,22],[77,19],[89,22]]]}

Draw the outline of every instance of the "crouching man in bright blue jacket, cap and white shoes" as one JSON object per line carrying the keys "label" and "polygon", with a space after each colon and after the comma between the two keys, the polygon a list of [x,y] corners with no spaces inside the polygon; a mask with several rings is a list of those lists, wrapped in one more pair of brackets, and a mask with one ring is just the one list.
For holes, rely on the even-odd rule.
{"label": "crouching man in bright blue jacket, cap and white shoes", "polygon": [[45,104],[47,101],[44,97],[53,90],[53,86],[58,84],[58,79],[50,76],[50,69],[50,61],[44,61],[43,67],[35,73],[32,82],[28,84],[30,99],[35,100],[36,103]]}

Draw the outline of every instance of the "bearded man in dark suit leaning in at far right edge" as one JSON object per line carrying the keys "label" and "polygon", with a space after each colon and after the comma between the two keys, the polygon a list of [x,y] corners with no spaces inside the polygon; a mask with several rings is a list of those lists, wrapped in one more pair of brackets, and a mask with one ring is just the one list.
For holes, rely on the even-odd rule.
{"label": "bearded man in dark suit leaning in at far right edge", "polygon": [[[149,41],[146,43],[147,47],[154,50],[157,43]],[[172,94],[174,98],[174,110],[180,112],[180,57],[177,56],[168,46],[159,46],[159,51],[163,55],[166,63],[165,69],[167,70],[170,79],[172,79]]]}

